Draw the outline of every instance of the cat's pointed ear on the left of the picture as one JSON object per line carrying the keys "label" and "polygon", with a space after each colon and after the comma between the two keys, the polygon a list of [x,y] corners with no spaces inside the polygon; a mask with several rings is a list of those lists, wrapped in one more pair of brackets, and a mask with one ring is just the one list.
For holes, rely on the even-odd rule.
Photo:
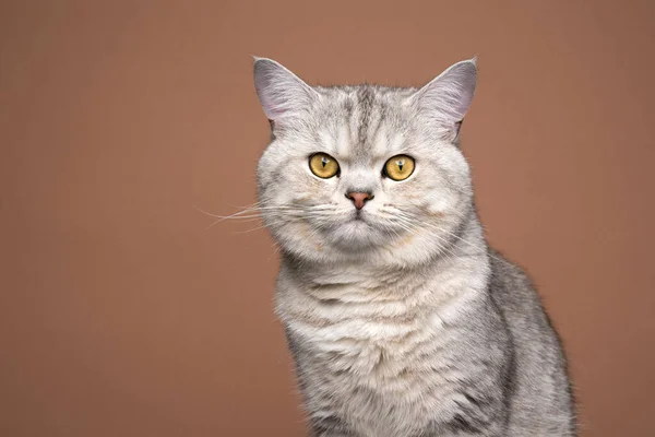
{"label": "cat's pointed ear on the left of the picture", "polygon": [[319,98],[311,86],[281,63],[254,57],[254,87],[269,120],[282,121],[309,108]]}

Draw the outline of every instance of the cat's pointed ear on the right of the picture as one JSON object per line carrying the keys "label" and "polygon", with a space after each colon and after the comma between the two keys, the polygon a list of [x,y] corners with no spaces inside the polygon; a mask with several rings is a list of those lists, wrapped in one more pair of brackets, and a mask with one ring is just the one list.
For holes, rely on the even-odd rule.
{"label": "cat's pointed ear on the right of the picture", "polygon": [[409,97],[409,103],[452,137],[468,111],[477,82],[477,57],[457,62]]}

